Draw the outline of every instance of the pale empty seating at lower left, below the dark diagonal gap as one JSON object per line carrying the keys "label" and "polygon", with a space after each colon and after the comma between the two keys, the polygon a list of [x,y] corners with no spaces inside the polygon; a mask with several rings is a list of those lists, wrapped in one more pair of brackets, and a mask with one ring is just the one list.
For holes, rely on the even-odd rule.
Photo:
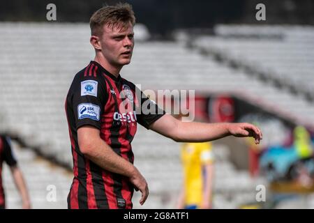
{"label": "pale empty seating at lower left, below the dark diagonal gap", "polygon": [[[73,176],[70,171],[57,167],[51,162],[38,157],[30,148],[19,146],[13,141],[13,153],[23,173],[29,190],[31,207],[36,209],[63,209],[67,208],[66,197]],[[6,192],[6,208],[22,208],[22,201],[8,166],[3,166],[3,185]],[[51,185],[56,189],[56,200],[52,201],[49,193]]]}

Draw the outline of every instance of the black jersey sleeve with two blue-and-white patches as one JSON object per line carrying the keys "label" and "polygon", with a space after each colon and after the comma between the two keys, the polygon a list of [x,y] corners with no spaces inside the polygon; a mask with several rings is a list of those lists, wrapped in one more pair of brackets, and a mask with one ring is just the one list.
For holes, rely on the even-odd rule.
{"label": "black jersey sleeve with two blue-and-white patches", "polygon": [[76,129],[92,125],[100,130],[107,102],[106,83],[100,77],[77,77],[73,82],[73,112]]}

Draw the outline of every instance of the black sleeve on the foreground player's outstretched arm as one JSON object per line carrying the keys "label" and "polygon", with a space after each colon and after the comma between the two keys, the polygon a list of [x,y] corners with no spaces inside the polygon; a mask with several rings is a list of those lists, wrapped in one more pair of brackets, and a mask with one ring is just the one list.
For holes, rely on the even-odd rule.
{"label": "black sleeve on the foreground player's outstretched arm", "polygon": [[141,94],[137,95],[140,102],[140,107],[136,109],[137,123],[149,129],[149,125],[165,115],[165,111],[158,107],[156,102],[150,100],[142,91],[137,89],[137,92]]}

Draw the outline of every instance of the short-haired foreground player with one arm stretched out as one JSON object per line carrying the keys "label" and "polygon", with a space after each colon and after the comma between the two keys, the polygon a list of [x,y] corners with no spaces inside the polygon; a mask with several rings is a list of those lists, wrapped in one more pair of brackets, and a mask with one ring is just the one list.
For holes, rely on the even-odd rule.
{"label": "short-haired foreground player with one arm stretched out", "polygon": [[[211,141],[234,135],[262,138],[249,123],[184,123],[165,114],[156,103],[122,78],[130,63],[135,16],[127,3],[105,6],[90,20],[90,43],[96,55],[75,75],[66,98],[73,154],[73,183],[68,208],[132,208],[133,190],[142,205],[149,195],[147,181],[133,165],[131,141],[137,123],[175,141]],[[149,111],[142,111],[142,105]]]}

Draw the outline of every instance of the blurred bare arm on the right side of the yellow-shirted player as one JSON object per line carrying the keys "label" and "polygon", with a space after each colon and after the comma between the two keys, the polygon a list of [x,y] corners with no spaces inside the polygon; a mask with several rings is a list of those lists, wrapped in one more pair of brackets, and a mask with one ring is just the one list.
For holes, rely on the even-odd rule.
{"label": "blurred bare arm on the right side of the yellow-shirted player", "polygon": [[213,180],[214,180],[214,164],[203,165],[204,171],[204,192],[202,197],[202,209],[209,209],[212,205]]}

